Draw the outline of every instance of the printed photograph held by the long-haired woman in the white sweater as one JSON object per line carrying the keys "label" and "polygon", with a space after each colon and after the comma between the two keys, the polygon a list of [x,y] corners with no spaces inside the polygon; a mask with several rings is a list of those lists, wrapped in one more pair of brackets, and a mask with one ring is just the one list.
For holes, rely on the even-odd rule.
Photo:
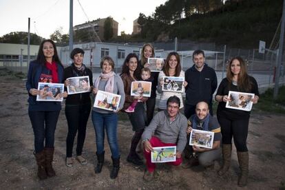
{"label": "printed photograph held by the long-haired woman in the white sweater", "polygon": [[162,91],[183,92],[184,77],[163,76]]}

